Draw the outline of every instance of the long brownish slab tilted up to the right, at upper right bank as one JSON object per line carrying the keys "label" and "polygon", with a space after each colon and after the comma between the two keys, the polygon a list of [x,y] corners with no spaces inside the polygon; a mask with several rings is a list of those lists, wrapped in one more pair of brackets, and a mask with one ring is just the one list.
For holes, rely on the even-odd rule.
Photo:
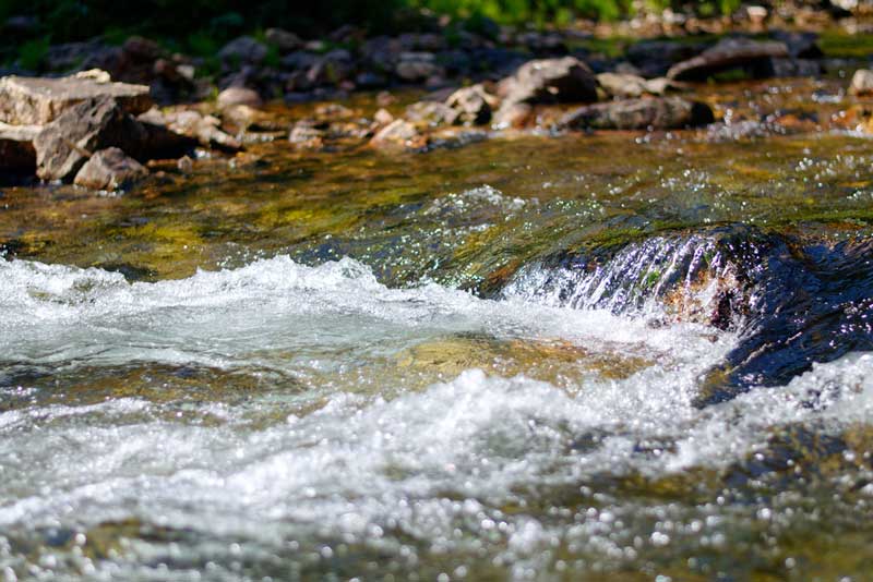
{"label": "long brownish slab tilted up to the right, at upper right bank", "polygon": [[701,54],[674,64],[667,72],[667,77],[699,81],[730,69],[754,68],[762,63],[766,65],[769,59],[784,59],[788,56],[788,47],[784,43],[726,38]]}

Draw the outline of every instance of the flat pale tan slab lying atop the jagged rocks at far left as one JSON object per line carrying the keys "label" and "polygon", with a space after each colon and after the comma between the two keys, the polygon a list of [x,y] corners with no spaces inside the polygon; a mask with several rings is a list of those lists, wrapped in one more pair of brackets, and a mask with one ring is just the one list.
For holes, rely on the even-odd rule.
{"label": "flat pale tan slab lying atop the jagged rocks at far left", "polygon": [[75,105],[98,97],[111,97],[119,107],[139,114],[152,107],[146,85],[101,83],[88,77],[0,78],[0,121],[15,125],[45,125]]}

